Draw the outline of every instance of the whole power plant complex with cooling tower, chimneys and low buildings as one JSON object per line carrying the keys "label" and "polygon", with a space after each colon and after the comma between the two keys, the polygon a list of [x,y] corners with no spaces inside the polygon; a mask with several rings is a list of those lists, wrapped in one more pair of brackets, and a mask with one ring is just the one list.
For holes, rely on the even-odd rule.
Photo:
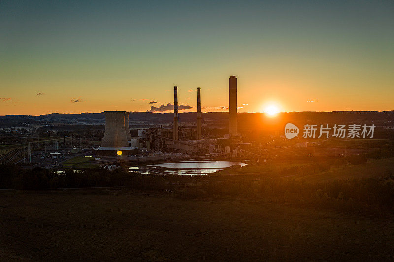
{"label": "whole power plant complex with cooling tower, chimneys and low buildings", "polygon": [[[105,132],[101,146],[93,148],[97,155],[135,155],[140,152],[172,152],[204,155],[214,152],[229,154],[250,146],[241,143],[237,132],[237,78],[229,78],[229,131],[223,138],[202,139],[201,88],[197,88],[196,127],[179,126],[178,87],[174,86],[174,107],[172,128],[160,127],[138,130],[138,136],[131,137],[128,111],[105,111]],[[248,144],[248,145],[246,145]],[[119,153],[121,151],[121,153]],[[234,155],[234,154],[233,154]]]}

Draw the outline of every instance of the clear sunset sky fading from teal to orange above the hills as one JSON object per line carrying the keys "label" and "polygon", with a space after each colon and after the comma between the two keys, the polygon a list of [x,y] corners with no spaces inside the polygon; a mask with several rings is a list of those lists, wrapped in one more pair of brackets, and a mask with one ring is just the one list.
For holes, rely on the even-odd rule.
{"label": "clear sunset sky fading from teal to orange above the hills", "polygon": [[[394,1],[0,1],[0,115],[394,110]],[[149,104],[150,102],[157,102]],[[168,112],[168,111],[167,111]]]}

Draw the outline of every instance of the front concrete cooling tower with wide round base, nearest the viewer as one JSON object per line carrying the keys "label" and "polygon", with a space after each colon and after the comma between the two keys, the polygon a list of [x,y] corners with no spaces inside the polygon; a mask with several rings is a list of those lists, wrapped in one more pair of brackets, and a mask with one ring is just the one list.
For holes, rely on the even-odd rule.
{"label": "front concrete cooling tower with wide round base, nearest the viewer", "polygon": [[[129,137],[131,140],[129,130],[129,112],[105,111],[104,113],[104,137],[101,140],[101,146],[93,148],[92,152],[96,155],[118,155],[119,151],[122,152],[122,155],[138,153],[137,147],[129,146]],[[129,136],[127,134],[129,134]]]}

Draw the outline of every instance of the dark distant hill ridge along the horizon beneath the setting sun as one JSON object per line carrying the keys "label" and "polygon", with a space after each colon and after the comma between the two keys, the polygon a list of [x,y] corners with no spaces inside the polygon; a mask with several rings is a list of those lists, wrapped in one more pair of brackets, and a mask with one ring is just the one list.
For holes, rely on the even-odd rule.
{"label": "dark distant hill ridge along the horizon beneath the setting sun", "polygon": [[[202,113],[204,122],[217,121],[224,124],[227,121],[228,112],[208,112]],[[81,114],[61,114],[52,113],[40,116],[7,115],[0,116],[0,122],[7,120],[35,120],[35,121],[97,121],[104,120],[104,112],[101,113],[81,113]],[[129,115],[130,121],[150,122],[150,123],[170,123],[173,113],[152,113],[152,112],[132,112]],[[185,112],[179,114],[180,122],[195,122],[196,112]],[[332,112],[288,112],[280,113],[275,118],[267,118],[263,113],[238,113],[238,121],[242,124],[250,125],[250,128],[259,125],[270,125],[280,123],[295,124],[341,124],[341,123],[378,123],[379,125],[394,125],[394,111],[332,111]],[[248,128],[246,128],[248,129]]]}

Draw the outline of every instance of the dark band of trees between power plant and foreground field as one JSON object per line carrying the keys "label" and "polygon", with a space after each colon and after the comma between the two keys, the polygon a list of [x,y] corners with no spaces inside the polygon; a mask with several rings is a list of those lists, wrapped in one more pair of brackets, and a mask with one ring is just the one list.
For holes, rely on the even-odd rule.
{"label": "dark band of trees between power plant and foreground field", "polygon": [[[315,164],[313,168],[314,172],[317,172],[328,167],[326,164]],[[307,174],[311,171],[306,167],[302,169],[294,167],[290,172],[306,172]],[[156,176],[122,169],[109,171],[103,168],[83,171],[68,170],[58,175],[43,168],[30,170],[16,165],[0,166],[0,188],[49,190],[100,186],[124,186],[130,190],[171,191],[179,197],[188,199],[242,197],[256,199],[263,203],[331,209],[348,213],[394,214],[393,174],[391,177],[382,179],[309,183],[279,176],[261,175],[257,178],[251,175]]]}

